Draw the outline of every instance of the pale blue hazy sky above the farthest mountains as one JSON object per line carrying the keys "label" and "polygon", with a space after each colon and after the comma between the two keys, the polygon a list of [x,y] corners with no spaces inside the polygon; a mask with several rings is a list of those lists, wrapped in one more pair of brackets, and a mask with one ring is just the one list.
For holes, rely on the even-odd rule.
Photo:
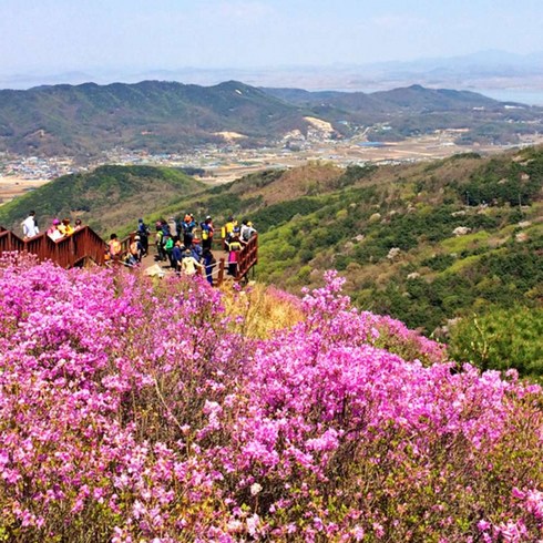
{"label": "pale blue hazy sky above the farthest mountains", "polygon": [[543,50],[542,0],[0,0],[0,73]]}

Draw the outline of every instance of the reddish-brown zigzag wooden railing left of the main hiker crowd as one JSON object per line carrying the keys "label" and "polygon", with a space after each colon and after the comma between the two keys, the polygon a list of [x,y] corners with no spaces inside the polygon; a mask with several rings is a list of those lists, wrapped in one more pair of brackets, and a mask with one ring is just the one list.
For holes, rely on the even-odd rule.
{"label": "reddish-brown zigzag wooden railing left of the main hiker crowd", "polygon": [[[133,235],[121,240],[122,255],[126,254]],[[85,260],[104,264],[105,242],[89,226],[76,229],[70,236],[53,242],[45,233],[21,239],[0,227],[0,254],[18,250],[35,255],[39,260],[52,260],[63,268],[79,266]]]}

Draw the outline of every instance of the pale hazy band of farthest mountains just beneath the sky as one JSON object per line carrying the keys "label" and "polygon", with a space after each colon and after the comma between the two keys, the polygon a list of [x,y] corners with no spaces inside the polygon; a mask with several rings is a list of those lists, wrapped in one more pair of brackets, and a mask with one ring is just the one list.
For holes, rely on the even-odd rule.
{"label": "pale hazy band of farthest mountains just beneath the sky", "polygon": [[[1,68],[0,68],[1,70]],[[515,54],[505,51],[480,51],[450,58],[426,58],[412,61],[372,62],[365,64],[194,68],[129,71],[83,70],[62,73],[1,73],[0,89],[29,89],[40,84],[81,84],[94,81],[136,83],[144,80],[178,81],[215,85],[223,81],[244,81],[253,86],[296,86],[310,91],[377,91],[419,83],[432,89],[522,90],[537,91],[543,105],[543,51]]]}

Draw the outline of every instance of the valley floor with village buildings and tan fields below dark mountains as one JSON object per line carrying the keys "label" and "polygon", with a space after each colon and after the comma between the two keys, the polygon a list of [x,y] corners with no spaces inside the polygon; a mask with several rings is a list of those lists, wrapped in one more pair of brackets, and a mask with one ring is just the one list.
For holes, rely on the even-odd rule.
{"label": "valley floor with village buildings and tan fields below dark mountains", "polygon": [[[327,124],[327,123],[325,123]],[[340,166],[403,164],[445,158],[453,154],[491,154],[510,147],[534,145],[543,135],[524,136],[519,145],[458,145],[461,130],[440,130],[401,142],[370,142],[366,131],[350,139],[334,137],[326,125],[315,123],[307,135],[287,133],[269,147],[245,148],[242,134],[224,134],[223,145],[206,144],[180,153],[153,154],[145,150],[115,147],[85,163],[71,156],[22,156],[0,153],[0,205],[62,175],[89,172],[104,164],[177,167],[201,181],[227,183],[270,168],[290,168],[308,162],[332,162]]]}

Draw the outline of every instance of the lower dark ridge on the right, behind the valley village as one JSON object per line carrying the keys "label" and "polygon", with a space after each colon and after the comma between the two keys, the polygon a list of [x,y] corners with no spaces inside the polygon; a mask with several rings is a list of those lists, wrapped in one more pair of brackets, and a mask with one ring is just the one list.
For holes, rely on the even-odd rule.
{"label": "lower dark ridge on the right, behind the valley village", "polygon": [[368,127],[370,141],[397,141],[436,130],[461,129],[458,143],[515,143],[519,134],[543,127],[543,109],[503,103],[482,94],[421,85],[390,91],[308,92],[300,89],[265,89],[287,103],[309,109],[345,134]]}

